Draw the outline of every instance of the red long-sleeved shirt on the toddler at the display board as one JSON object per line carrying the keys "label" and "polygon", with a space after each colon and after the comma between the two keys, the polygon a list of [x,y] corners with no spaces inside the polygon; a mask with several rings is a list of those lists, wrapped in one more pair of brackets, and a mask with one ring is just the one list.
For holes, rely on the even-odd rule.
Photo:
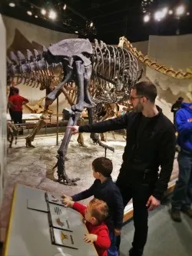
{"label": "red long-sleeved shirt on the toddler at the display board", "polygon": [[[73,208],[84,216],[84,211],[86,209],[86,206],[84,206],[83,204],[74,202]],[[98,226],[95,226],[90,222],[87,222],[86,226],[88,228],[89,233],[98,235],[97,241],[94,242],[95,248],[98,251],[98,255],[108,256],[108,248],[110,248],[111,241],[109,238],[108,227],[106,226],[106,224],[104,224],[103,222]]]}

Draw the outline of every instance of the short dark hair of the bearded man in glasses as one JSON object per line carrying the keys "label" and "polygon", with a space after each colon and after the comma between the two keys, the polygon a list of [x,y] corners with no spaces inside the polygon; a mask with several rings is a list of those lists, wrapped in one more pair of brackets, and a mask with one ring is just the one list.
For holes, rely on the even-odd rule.
{"label": "short dark hair of the bearded man in glasses", "polygon": [[133,89],[136,90],[137,95],[144,96],[153,103],[157,97],[157,88],[151,81],[140,81],[134,85]]}

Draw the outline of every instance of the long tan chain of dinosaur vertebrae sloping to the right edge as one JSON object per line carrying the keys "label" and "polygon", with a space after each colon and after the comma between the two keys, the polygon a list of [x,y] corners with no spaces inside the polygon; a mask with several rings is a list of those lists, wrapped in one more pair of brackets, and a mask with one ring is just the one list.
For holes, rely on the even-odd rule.
{"label": "long tan chain of dinosaur vertebrae sloping to the right edge", "polygon": [[137,48],[134,48],[133,45],[131,45],[131,42],[127,40],[124,36],[122,36],[119,39],[118,47],[123,48],[123,46],[126,46],[127,49],[136,57],[138,58],[144,65],[147,65],[150,68],[154,68],[154,70],[157,70],[161,72],[164,75],[168,75],[171,78],[177,78],[177,79],[191,79],[192,78],[192,68],[187,68],[186,71],[182,70],[174,70],[174,68],[167,68],[164,65],[159,65],[157,62],[154,62],[154,60],[151,60],[151,58],[147,55],[143,55],[142,52],[138,52]]}

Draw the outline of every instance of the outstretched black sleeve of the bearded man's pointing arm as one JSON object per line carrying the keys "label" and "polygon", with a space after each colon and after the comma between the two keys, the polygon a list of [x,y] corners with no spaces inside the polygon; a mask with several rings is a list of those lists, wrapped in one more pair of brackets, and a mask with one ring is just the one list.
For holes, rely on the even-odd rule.
{"label": "outstretched black sleeve of the bearded man's pointing arm", "polygon": [[129,113],[118,117],[111,118],[106,121],[100,121],[92,125],[82,125],[79,127],[79,132],[105,132],[120,130],[127,127],[127,121],[129,118]]}

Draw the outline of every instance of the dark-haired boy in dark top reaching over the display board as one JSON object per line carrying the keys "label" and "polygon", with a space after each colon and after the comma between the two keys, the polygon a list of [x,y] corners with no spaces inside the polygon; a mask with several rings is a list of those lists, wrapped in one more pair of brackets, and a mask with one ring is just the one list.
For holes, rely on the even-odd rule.
{"label": "dark-haired boy in dark top reaching over the display board", "polygon": [[121,193],[111,178],[113,164],[108,158],[96,158],[92,163],[92,168],[95,181],[90,188],[79,194],[74,194],[72,197],[69,197],[66,194],[63,194],[62,197],[73,201],[81,201],[94,195],[94,198],[103,200],[108,204],[109,216],[105,220],[105,223],[108,225],[111,238],[111,247],[108,250],[108,255],[117,256],[118,251],[115,246],[115,237],[121,234],[124,204]]}

